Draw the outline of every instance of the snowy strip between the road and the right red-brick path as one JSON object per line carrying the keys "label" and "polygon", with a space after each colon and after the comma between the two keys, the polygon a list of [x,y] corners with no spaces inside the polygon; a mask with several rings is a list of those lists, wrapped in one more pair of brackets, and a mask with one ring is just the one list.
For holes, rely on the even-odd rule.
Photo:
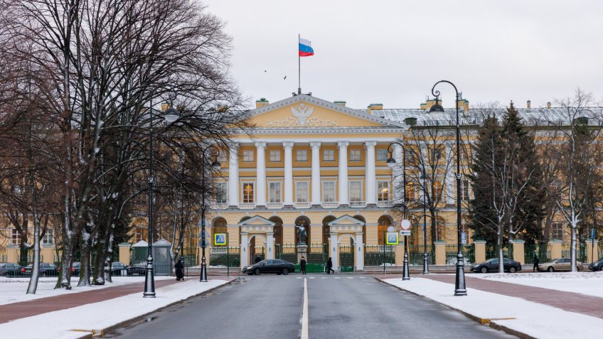
{"label": "snowy strip between the road and the right red-brick path", "polygon": [[[476,318],[492,319],[492,323],[534,338],[600,338],[600,329],[603,328],[603,319],[563,311],[522,298],[471,288],[467,289],[467,296],[454,296],[454,284],[414,277],[410,281],[397,278],[386,279],[385,282]],[[494,320],[495,318],[513,319]]]}

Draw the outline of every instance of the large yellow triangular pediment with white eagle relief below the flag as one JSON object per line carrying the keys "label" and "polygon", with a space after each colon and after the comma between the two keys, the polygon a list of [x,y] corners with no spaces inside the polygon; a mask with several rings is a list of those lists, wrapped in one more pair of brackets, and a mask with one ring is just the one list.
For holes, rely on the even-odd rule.
{"label": "large yellow triangular pediment with white eagle relief below the flag", "polygon": [[406,125],[309,95],[296,95],[253,109],[257,128],[405,128]]}

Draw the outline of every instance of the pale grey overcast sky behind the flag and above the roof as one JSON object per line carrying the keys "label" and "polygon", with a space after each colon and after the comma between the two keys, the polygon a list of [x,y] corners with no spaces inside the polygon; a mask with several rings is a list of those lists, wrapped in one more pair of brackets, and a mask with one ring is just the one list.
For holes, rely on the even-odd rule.
{"label": "pale grey overcast sky behind the flag and above the roof", "polygon": [[[203,3],[233,37],[232,75],[252,102],[297,92],[298,33],[314,48],[301,58],[302,92],[357,109],[419,108],[442,79],[470,103],[540,107],[577,87],[603,96],[603,1]],[[454,106],[454,89],[439,88]]]}

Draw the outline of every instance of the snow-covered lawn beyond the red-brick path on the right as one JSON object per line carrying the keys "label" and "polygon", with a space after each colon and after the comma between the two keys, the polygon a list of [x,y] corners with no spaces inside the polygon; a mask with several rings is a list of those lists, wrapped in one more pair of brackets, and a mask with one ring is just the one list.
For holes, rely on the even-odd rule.
{"label": "snow-covered lawn beyond the red-brick path on the right", "polygon": [[471,274],[472,278],[555,289],[603,298],[603,272],[539,272],[521,274]]}

